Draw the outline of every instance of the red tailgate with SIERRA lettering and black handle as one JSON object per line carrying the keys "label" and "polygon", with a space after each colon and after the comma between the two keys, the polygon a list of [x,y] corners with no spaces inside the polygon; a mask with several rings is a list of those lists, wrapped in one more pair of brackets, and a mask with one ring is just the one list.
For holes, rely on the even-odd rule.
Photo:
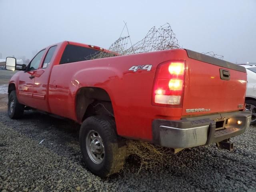
{"label": "red tailgate with SIERRA lettering and black handle", "polygon": [[236,111],[244,108],[246,69],[186,50],[182,116]]}

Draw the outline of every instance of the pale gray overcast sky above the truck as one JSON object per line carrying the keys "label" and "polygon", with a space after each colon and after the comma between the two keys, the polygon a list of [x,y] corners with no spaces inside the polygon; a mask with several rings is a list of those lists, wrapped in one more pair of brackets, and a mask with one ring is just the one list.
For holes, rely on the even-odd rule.
{"label": "pale gray overcast sky above the truck", "polygon": [[108,48],[127,22],[132,42],[170,23],[180,45],[256,62],[256,0],[0,0],[0,53],[26,56],[70,40]]}

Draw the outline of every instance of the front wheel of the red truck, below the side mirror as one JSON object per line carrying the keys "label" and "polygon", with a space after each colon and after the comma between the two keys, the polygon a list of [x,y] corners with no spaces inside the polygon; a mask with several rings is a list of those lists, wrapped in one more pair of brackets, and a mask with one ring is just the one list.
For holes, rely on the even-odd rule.
{"label": "front wheel of the red truck, below the side mirror", "polygon": [[8,98],[8,116],[11,119],[21,118],[24,112],[24,105],[20,104],[17,99],[16,91],[12,91]]}

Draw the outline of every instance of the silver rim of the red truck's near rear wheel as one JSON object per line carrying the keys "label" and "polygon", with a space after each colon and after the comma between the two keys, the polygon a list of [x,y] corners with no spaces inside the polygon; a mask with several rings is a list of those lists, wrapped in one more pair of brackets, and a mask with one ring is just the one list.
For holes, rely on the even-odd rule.
{"label": "silver rim of the red truck's near rear wheel", "polygon": [[86,136],[86,150],[90,159],[96,163],[100,164],[104,160],[104,145],[102,138],[98,132],[90,130]]}

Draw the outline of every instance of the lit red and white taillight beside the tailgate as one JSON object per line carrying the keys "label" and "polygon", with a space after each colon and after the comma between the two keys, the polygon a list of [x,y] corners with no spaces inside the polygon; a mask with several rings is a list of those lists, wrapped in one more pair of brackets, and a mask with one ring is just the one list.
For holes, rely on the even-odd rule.
{"label": "lit red and white taillight beside the tailgate", "polygon": [[185,67],[184,60],[171,60],[158,65],[154,79],[153,105],[181,106]]}

